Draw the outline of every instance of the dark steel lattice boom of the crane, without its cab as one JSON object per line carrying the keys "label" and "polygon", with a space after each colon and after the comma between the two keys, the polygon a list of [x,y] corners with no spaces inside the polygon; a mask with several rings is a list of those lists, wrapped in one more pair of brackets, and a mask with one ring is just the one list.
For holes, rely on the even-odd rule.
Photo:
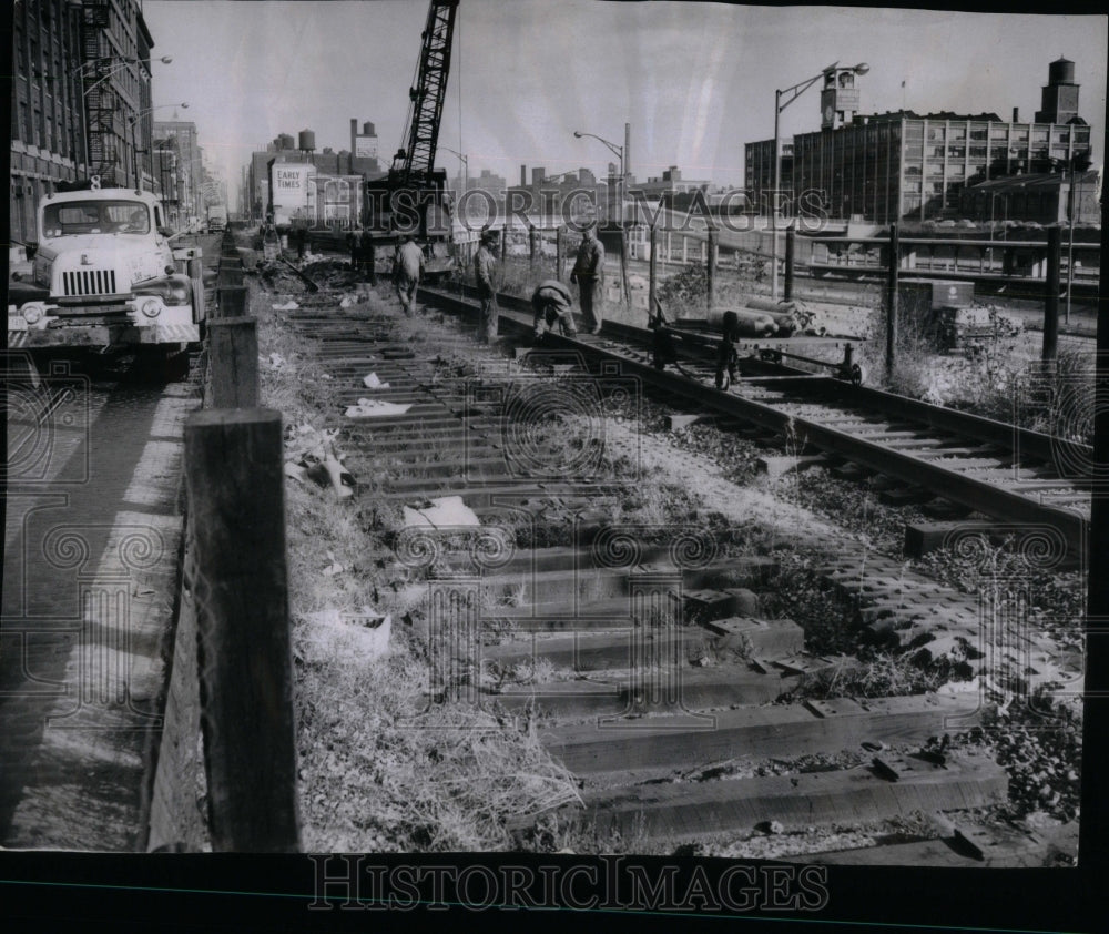
{"label": "dark steel lattice boom of the crane, without its cab", "polygon": [[390,187],[430,183],[439,142],[439,119],[450,74],[450,48],[458,0],[431,0],[423,33],[419,73],[408,95],[407,146],[397,151],[389,170]]}

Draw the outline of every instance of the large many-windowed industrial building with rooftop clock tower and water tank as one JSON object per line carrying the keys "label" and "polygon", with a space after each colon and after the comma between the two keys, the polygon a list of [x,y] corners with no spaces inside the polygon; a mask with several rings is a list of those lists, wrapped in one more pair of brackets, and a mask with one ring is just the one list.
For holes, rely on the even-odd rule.
{"label": "large many-windowed industrial building with rooftop clock tower and water tank", "polygon": [[[1088,158],[1090,128],[1077,114],[1072,78],[1071,62],[1051,63],[1045,110],[1037,113],[1052,118],[1046,122],[1021,121],[1017,110],[1009,121],[996,113],[862,116],[835,102],[830,106],[825,90],[823,129],[796,134],[782,146],[783,156],[790,155],[783,159],[782,190],[794,212],[820,207],[835,219],[889,223],[955,216],[971,185]],[[745,146],[746,186],[763,212],[770,210],[773,146],[773,140]]]}

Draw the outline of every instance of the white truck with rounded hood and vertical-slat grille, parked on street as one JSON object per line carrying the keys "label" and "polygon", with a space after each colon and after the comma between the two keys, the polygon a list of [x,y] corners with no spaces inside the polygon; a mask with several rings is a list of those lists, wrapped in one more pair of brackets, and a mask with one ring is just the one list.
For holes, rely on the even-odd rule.
{"label": "white truck with rounded hood and vertical-slat grille, parked on street", "polygon": [[199,250],[174,250],[150,192],[55,192],[39,204],[29,283],[9,291],[9,346],[186,344],[200,341]]}

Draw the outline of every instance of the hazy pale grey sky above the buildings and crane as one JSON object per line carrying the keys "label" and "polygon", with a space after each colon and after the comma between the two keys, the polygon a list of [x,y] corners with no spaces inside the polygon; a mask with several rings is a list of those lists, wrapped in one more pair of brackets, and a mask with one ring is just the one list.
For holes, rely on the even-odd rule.
{"label": "hazy pale grey sky above the buildings and crane", "polygon": [[[350,119],[376,125],[383,167],[404,142],[427,0],[145,0],[154,104],[196,122],[232,199],[250,153],[309,129],[349,149]],[[631,126],[637,180],[743,183],[743,145],[770,139],[774,91],[828,64],[866,62],[862,112],[1020,109],[1034,119],[1048,63],[1076,65],[1079,113],[1103,161],[1106,16],[1025,16],[715,2],[460,0],[437,165],[469,159],[516,184],[520,165],[602,176]],[[782,113],[781,132],[820,129],[818,88]]]}

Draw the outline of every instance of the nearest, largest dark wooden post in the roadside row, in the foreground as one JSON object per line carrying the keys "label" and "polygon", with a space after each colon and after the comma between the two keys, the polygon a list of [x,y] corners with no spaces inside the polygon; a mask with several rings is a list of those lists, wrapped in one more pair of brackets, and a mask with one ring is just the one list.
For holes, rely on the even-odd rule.
{"label": "nearest, largest dark wooden post in the roadside row, in the foreground", "polygon": [[185,423],[212,849],[299,850],[279,412]]}

